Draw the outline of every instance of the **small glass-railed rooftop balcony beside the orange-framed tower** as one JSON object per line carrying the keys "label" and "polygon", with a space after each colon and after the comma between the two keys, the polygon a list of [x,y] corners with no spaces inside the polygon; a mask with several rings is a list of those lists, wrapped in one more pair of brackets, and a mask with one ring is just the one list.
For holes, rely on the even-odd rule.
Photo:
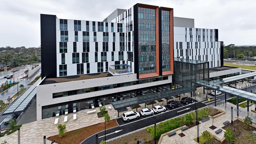
{"label": "small glass-railed rooftop balcony beside the orange-framed tower", "polygon": [[110,65],[109,71],[113,76],[119,76],[123,74],[132,74],[132,66],[126,64]]}

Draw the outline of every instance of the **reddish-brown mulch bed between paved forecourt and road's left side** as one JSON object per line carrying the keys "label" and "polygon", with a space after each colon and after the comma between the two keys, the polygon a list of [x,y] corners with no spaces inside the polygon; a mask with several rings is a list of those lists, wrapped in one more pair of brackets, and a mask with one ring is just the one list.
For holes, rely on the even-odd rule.
{"label": "reddish-brown mulch bed between paved forecourt and road's left side", "polygon": [[[116,120],[110,120],[106,123],[106,129],[111,127],[118,126]],[[80,144],[83,140],[90,137],[91,135],[103,131],[105,129],[104,122],[95,124],[88,127],[83,127],[81,129],[76,129],[74,131],[69,131],[64,133],[63,137],[59,137],[58,135],[54,135],[52,137],[48,137],[47,139],[50,141],[55,140],[58,144]]]}

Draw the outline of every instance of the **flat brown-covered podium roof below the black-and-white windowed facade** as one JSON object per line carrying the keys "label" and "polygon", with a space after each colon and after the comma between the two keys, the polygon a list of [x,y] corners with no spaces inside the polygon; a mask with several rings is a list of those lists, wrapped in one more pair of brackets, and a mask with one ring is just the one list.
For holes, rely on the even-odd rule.
{"label": "flat brown-covered podium roof below the black-and-white windowed facade", "polygon": [[102,73],[95,73],[95,74],[82,74],[82,75],[75,75],[75,76],[64,76],[58,78],[46,78],[41,85],[47,85],[52,83],[62,83],[68,81],[78,81],[78,80],[85,80],[85,79],[95,79],[95,78],[104,78],[113,76],[109,72],[102,72]]}

